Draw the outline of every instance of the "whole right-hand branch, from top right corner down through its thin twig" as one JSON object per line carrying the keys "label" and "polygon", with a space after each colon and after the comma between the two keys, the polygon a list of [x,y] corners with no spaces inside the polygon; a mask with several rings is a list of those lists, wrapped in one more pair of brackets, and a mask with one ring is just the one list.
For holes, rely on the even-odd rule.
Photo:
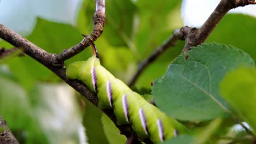
{"label": "whole right-hand branch, from top right corner down through its thin twig", "polygon": [[244,7],[249,4],[256,4],[256,2],[255,0],[222,0],[200,29],[185,26],[174,31],[164,44],[159,46],[147,59],[139,64],[138,70],[128,85],[130,87],[135,85],[138,77],[143,73],[148,65],[154,62],[163,52],[168,49],[168,47],[173,46],[178,39],[187,40],[187,44],[182,51],[182,53],[185,53],[191,49],[191,46],[202,44],[229,10],[237,7]]}

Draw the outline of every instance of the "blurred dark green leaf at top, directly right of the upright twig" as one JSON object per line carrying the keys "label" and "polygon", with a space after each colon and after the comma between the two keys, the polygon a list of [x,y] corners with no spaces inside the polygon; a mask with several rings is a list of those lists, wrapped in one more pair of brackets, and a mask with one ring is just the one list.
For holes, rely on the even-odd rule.
{"label": "blurred dark green leaf at top, directly right of the upright twig", "polygon": [[106,1],[106,5],[104,37],[114,46],[133,45],[133,21],[137,13],[135,4],[129,0],[110,0]]}

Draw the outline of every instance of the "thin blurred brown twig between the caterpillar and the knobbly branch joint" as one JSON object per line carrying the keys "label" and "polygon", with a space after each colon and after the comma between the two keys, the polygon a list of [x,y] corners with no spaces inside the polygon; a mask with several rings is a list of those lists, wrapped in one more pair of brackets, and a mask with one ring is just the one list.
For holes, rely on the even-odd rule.
{"label": "thin blurred brown twig between the caterpillar and the knobbly branch joint", "polygon": [[174,31],[172,35],[161,46],[159,46],[147,59],[144,59],[144,61],[142,61],[139,64],[138,70],[136,74],[132,77],[132,80],[129,83],[129,86],[132,87],[137,81],[138,77],[142,74],[144,69],[146,69],[150,63],[154,62],[169,47],[174,46],[176,41],[181,38],[182,38],[182,33],[179,31],[179,29]]}

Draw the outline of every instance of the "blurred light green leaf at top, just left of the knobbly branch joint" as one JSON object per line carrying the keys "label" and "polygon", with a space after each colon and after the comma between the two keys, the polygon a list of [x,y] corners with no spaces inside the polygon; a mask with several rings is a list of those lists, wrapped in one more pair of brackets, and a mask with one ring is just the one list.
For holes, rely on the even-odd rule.
{"label": "blurred light green leaf at top, just left of the knobbly branch joint", "polygon": [[[183,26],[180,14],[173,13],[176,8],[180,9],[181,1],[138,0],[134,3],[137,5],[139,13],[135,45],[139,54],[146,57],[172,34],[174,28],[170,28],[172,25],[169,23],[170,21],[179,23],[177,28]],[[172,16],[177,16],[179,19],[172,19]]]}

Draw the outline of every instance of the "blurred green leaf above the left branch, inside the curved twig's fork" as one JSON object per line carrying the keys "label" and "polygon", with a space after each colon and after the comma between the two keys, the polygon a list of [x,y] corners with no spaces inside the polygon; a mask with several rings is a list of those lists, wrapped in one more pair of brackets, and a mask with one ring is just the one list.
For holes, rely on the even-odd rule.
{"label": "blurred green leaf above the left branch, inside the curved twig's fork", "polygon": [[50,53],[61,53],[78,44],[83,37],[71,25],[37,18],[37,24],[27,39]]}

